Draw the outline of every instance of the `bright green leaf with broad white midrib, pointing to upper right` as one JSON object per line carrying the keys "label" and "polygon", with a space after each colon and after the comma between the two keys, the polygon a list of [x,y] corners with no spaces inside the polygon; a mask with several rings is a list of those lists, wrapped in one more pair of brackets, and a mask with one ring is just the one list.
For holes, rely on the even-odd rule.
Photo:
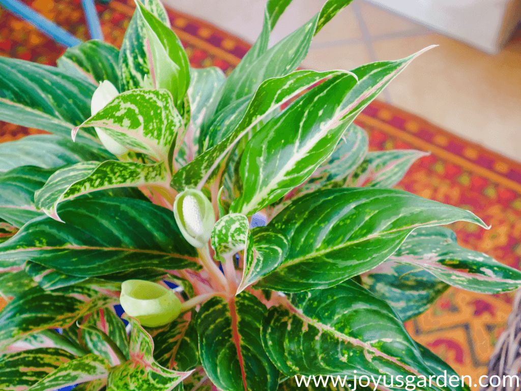
{"label": "bright green leaf with broad white midrib, pointing to upper right", "polygon": [[354,118],[423,49],[398,61],[374,62],[339,74],[301,96],[246,145],[244,192],[231,212],[250,216],[304,183],[334,151]]}

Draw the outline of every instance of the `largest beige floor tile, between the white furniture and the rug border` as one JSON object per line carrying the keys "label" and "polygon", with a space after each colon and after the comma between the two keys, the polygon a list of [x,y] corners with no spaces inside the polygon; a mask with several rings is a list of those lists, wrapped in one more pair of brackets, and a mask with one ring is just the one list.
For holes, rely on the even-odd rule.
{"label": "largest beige floor tile, between the white furniture and the rug border", "polygon": [[379,60],[438,47],[389,85],[392,104],[521,160],[521,45],[496,56],[438,34],[377,42]]}

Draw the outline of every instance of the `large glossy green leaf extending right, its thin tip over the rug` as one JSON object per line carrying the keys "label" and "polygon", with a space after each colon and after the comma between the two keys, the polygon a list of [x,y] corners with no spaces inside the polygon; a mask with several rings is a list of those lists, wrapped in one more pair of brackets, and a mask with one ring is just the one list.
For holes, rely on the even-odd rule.
{"label": "large glossy green leaf extending right, its thin tip over the rug", "polygon": [[302,292],[339,284],[389,258],[414,229],[454,221],[488,228],[472,212],[401,190],[351,187],[306,194],[270,221],[291,245],[259,287]]}

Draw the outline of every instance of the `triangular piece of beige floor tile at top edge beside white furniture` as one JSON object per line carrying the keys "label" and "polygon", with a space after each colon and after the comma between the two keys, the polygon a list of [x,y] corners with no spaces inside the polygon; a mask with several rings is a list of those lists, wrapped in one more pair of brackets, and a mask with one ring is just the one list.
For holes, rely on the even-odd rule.
{"label": "triangular piece of beige floor tile at top edge beside white furniture", "polygon": [[419,24],[375,5],[363,1],[357,1],[356,5],[361,11],[370,36],[425,29]]}

